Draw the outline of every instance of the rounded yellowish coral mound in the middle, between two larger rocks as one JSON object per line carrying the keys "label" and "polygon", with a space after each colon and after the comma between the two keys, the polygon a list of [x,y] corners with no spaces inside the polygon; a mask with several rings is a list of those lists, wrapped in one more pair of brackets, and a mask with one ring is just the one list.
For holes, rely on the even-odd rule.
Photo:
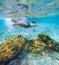
{"label": "rounded yellowish coral mound in the middle, between two larger rocks", "polygon": [[39,40],[30,40],[25,46],[26,51],[31,53],[40,53],[46,49],[46,44]]}

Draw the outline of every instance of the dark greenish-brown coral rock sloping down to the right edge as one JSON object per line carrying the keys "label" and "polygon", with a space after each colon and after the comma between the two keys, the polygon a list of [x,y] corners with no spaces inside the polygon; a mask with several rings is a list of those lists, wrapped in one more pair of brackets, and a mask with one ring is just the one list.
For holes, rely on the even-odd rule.
{"label": "dark greenish-brown coral rock sloping down to the right edge", "polygon": [[41,40],[47,45],[47,48],[59,52],[59,43],[53,40],[49,35],[39,34],[38,40]]}

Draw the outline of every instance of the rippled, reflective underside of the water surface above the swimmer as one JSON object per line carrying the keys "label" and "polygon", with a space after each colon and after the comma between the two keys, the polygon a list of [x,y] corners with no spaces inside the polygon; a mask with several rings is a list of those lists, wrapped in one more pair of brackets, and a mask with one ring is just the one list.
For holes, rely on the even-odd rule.
{"label": "rippled, reflective underside of the water surface above the swimmer", "polygon": [[59,14],[58,0],[3,0],[0,1],[0,17],[43,17]]}

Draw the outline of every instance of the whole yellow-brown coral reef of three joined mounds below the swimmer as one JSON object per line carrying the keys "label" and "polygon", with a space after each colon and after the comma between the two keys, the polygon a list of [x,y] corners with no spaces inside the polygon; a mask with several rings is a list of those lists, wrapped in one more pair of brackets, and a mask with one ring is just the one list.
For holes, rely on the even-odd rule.
{"label": "whole yellow-brown coral reef of three joined mounds below the swimmer", "polygon": [[39,34],[38,38],[32,40],[18,35],[0,45],[0,65],[6,65],[21,51],[40,53],[48,48],[59,52],[59,43],[45,34]]}

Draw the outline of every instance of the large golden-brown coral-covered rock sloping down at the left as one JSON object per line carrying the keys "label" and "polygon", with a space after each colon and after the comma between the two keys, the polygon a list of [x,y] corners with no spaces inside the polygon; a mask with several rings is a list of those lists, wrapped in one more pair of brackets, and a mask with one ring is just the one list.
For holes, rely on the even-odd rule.
{"label": "large golden-brown coral-covered rock sloping down at the left", "polygon": [[6,65],[22,49],[26,39],[22,36],[14,37],[0,46],[0,65]]}

